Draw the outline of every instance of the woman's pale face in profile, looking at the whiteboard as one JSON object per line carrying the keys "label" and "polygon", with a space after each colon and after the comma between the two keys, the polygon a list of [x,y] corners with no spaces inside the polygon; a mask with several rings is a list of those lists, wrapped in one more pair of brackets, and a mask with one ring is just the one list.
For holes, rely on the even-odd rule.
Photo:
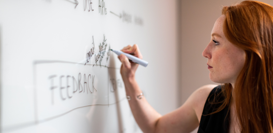
{"label": "woman's pale face in profile, looking at the whiteboard", "polygon": [[224,20],[225,15],[222,15],[214,23],[211,40],[202,55],[208,58],[211,81],[234,84],[244,66],[246,53],[225,38]]}

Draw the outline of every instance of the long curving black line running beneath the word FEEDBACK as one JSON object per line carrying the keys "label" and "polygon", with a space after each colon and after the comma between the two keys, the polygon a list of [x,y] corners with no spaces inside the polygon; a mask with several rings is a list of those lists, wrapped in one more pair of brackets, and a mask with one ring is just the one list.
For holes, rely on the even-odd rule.
{"label": "long curving black line running beneath the word FEEDBACK", "polygon": [[114,104],[117,104],[119,102],[122,102],[125,99],[126,99],[126,97],[120,99],[119,101],[117,101],[115,103],[111,103],[111,104],[94,104],[94,105],[87,105],[87,106],[77,107],[77,108],[74,108],[74,109],[72,109],[70,111],[62,113],[60,115],[55,115],[55,116],[49,117],[47,119],[39,120],[38,123],[36,123],[35,121],[33,121],[33,122],[26,122],[26,123],[17,124],[17,125],[14,125],[14,126],[2,128],[3,129],[2,131],[4,131],[4,132],[6,132],[6,131],[14,131],[14,130],[19,130],[19,129],[22,129],[22,128],[25,128],[25,127],[35,126],[35,125],[37,125],[39,123],[44,123],[44,122],[50,121],[52,119],[56,119],[58,117],[66,115],[66,114],[70,113],[71,111],[74,111],[74,110],[79,109],[79,108],[90,107],[90,106],[110,106],[110,105],[114,105]]}

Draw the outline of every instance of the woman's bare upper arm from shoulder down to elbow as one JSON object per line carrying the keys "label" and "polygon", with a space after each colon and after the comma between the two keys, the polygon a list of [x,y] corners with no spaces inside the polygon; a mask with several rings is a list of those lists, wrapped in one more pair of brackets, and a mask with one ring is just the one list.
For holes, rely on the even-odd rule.
{"label": "woman's bare upper arm from shoulder down to elbow", "polygon": [[177,132],[191,132],[194,130],[200,123],[206,99],[216,86],[205,85],[198,88],[181,107],[163,115],[158,126]]}

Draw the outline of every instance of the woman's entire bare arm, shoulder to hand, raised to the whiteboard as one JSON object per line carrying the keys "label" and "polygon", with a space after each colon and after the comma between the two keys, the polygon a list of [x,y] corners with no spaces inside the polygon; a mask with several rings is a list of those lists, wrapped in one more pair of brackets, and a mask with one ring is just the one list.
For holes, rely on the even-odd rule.
{"label": "woman's entire bare arm, shoulder to hand, raised to the whiteboard", "polygon": [[[122,51],[142,59],[137,45],[126,46]],[[123,54],[118,58],[122,62],[120,72],[126,95],[131,97],[129,100],[131,111],[144,133],[190,132],[199,125],[205,101],[215,85],[207,85],[197,89],[180,108],[161,116],[151,107],[145,97],[137,98],[142,93],[135,80],[138,64],[130,62]]]}

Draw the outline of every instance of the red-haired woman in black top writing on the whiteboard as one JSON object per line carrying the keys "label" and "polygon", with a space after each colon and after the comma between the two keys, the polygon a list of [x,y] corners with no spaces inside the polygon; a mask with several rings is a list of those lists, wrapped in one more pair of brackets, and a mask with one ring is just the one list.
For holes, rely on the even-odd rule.
{"label": "red-haired woman in black top writing on the whiteboard", "polygon": [[[123,52],[142,58],[137,45]],[[256,1],[224,6],[211,41],[209,78],[222,86],[200,87],[175,111],[161,116],[134,79],[138,64],[120,55],[121,75],[136,122],[143,132],[273,132],[273,7]]]}

